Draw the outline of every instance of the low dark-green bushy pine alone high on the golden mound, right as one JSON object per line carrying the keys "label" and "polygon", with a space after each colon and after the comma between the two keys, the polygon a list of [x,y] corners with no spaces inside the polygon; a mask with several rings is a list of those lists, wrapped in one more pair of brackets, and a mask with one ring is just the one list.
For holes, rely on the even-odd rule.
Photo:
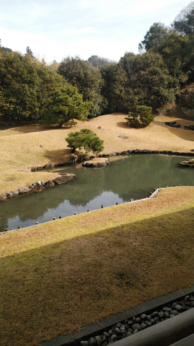
{"label": "low dark-green bushy pine alone high on the golden mound, right", "polygon": [[154,120],[155,115],[152,114],[152,107],[138,106],[134,112],[129,112],[125,118],[131,127],[145,127]]}

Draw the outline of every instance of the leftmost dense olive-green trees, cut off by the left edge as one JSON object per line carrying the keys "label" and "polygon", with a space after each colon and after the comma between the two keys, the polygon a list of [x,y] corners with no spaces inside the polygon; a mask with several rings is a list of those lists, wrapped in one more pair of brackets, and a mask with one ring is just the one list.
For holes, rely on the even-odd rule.
{"label": "leftmost dense olive-green trees, cut off by the left edge", "polygon": [[0,49],[0,119],[39,117],[63,78],[28,54]]}

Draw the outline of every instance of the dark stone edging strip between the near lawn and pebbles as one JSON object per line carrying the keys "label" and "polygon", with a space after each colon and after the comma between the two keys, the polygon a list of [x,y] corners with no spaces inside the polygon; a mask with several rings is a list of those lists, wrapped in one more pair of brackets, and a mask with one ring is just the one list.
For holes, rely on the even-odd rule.
{"label": "dark stone edging strip between the near lawn and pebbles", "polygon": [[185,287],[181,291],[175,290],[165,295],[161,295],[157,298],[145,301],[134,308],[125,310],[123,312],[115,313],[109,318],[105,318],[96,323],[84,326],[80,331],[75,330],[74,333],[66,333],[58,335],[48,341],[42,341],[36,346],[75,346],[80,345],[81,340],[88,340],[90,337],[94,337],[97,334],[103,334],[106,329],[110,329],[111,326],[124,322],[127,320],[133,320],[139,315],[145,313],[148,315],[151,311],[160,310],[163,306],[171,305],[178,300],[184,300],[188,294],[194,293],[194,285],[191,287]]}

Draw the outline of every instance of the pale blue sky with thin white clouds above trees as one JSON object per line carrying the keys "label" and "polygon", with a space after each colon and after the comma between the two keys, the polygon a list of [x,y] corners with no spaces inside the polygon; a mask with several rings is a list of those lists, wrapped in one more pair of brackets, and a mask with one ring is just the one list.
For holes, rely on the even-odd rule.
{"label": "pale blue sky with thin white clouds above trees", "polygon": [[1,45],[60,62],[138,53],[154,22],[170,25],[188,0],[0,0]]}

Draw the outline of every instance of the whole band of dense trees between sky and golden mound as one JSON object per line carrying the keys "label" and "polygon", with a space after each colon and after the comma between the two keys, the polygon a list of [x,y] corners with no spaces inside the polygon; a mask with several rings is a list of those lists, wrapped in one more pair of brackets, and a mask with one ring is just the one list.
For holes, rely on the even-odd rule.
{"label": "whole band of dense trees between sky and golden mound", "polygon": [[60,108],[65,93],[66,122],[74,121],[68,113],[72,102],[78,102],[84,118],[173,103],[181,86],[194,80],[194,1],[171,27],[154,23],[138,47],[138,54],[126,52],[118,63],[92,55],[50,65],[38,61],[29,47],[24,55],[0,47],[0,121],[41,115],[49,124],[54,100]]}

